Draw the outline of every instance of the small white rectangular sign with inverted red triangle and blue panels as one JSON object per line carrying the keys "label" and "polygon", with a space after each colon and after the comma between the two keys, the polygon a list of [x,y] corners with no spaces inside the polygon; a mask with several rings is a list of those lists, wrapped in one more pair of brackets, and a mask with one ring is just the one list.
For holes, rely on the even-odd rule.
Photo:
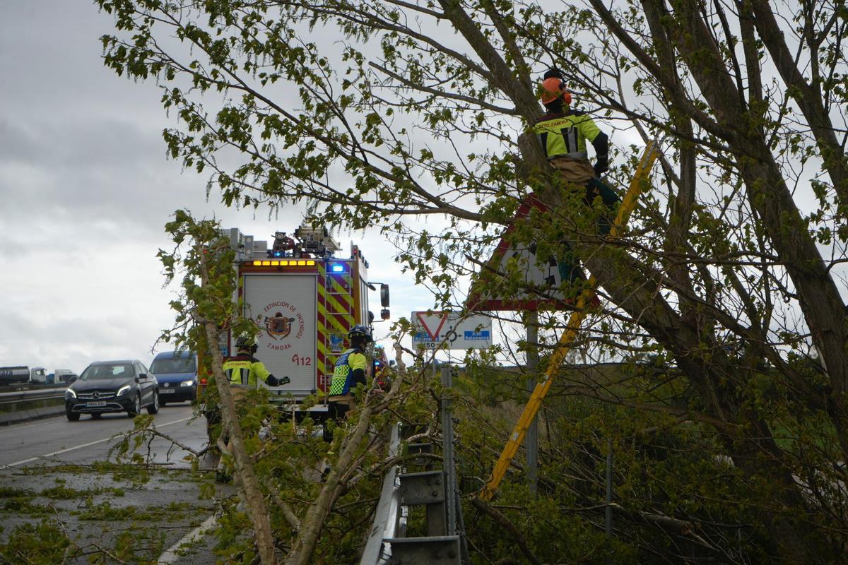
{"label": "small white rectangular sign with inverted red triangle and blue panels", "polygon": [[[484,349],[492,346],[492,319],[455,312],[413,312],[412,346],[424,349]],[[441,345],[440,345],[441,344]]]}

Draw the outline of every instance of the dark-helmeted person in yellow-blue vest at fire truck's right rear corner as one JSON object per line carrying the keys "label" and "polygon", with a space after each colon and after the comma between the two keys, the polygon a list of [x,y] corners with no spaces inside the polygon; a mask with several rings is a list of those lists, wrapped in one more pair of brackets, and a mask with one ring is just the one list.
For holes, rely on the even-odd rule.
{"label": "dark-helmeted person in yellow-blue vest at fire truck's right rear corner", "polygon": [[[354,325],[348,334],[350,348],[343,352],[336,361],[330,383],[329,405],[327,418],[340,423],[354,403],[353,391],[356,385],[365,384],[367,377],[365,368],[368,359],[365,357],[365,346],[371,341],[371,330],[362,324]],[[324,439],[332,440],[332,434],[324,428]]]}

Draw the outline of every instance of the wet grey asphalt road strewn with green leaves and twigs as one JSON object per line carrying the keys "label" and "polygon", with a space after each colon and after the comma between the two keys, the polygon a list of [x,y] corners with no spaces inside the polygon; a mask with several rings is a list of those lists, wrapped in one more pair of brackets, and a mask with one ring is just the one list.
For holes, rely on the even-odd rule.
{"label": "wet grey asphalt road strewn with green leaves and twigs", "polygon": [[[160,408],[153,424],[192,450],[206,444],[205,419],[192,421],[187,403]],[[27,546],[27,540],[45,548],[63,535],[72,544],[70,563],[98,557],[215,562],[212,536],[198,530],[215,523],[216,501],[231,496],[232,487],[215,485],[211,473],[192,471],[184,459],[188,451],[162,438],[142,443],[141,463],[118,461],[109,449],[132,428],[126,414],[83,416],[78,422],[63,415],[0,428],[0,563],[25,562],[9,561],[8,551]],[[202,499],[204,485],[207,490],[215,485],[215,496]],[[50,526],[46,533],[31,528],[44,523]]]}

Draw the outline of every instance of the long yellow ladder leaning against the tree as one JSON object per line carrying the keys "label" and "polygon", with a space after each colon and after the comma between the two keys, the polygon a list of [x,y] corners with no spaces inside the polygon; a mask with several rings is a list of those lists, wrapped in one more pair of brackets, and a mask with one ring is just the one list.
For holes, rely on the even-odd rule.
{"label": "long yellow ladder leaning against the tree", "polygon": [[[615,222],[613,222],[610,230],[611,237],[618,235],[619,231],[627,225],[630,213],[632,213],[633,208],[636,207],[636,201],[639,199],[639,194],[644,188],[645,183],[643,180],[648,174],[650,174],[650,170],[653,168],[658,155],[659,149],[657,142],[650,141],[647,147],[644,148],[642,157],[639,159],[639,165],[636,167],[636,174],[633,175],[633,180],[630,181],[627,194],[624,195],[624,201],[618,208]],[[548,368],[544,372],[544,378],[536,385],[536,388],[533,390],[533,394],[530,395],[530,400],[527,401],[527,406],[524,407],[524,412],[522,413],[521,418],[518,418],[518,423],[516,424],[515,429],[512,430],[510,439],[506,442],[504,451],[501,452],[498,463],[495,464],[494,469],[492,470],[492,475],[488,479],[488,483],[483,487],[483,490],[480,491],[480,498],[484,501],[492,500],[495,491],[498,490],[498,485],[500,484],[501,479],[503,479],[506,474],[506,469],[510,467],[512,458],[516,457],[518,446],[522,445],[524,436],[527,435],[527,429],[530,427],[530,424],[533,423],[533,419],[536,418],[539,408],[542,407],[542,401],[544,400],[544,396],[547,395],[550,390],[554,374],[557,370],[559,370],[562,362],[566,358],[566,353],[569,352],[572,347],[572,343],[574,343],[575,338],[577,338],[577,331],[580,330],[580,324],[583,323],[583,319],[586,317],[585,306],[595,294],[594,286],[595,279],[594,276],[592,276],[589,278],[589,285],[587,285],[587,288],[580,294],[580,296],[577,297],[577,308],[574,312],[572,312],[571,318],[568,319],[566,330],[563,332],[562,337],[560,338],[560,343],[550,358]]]}

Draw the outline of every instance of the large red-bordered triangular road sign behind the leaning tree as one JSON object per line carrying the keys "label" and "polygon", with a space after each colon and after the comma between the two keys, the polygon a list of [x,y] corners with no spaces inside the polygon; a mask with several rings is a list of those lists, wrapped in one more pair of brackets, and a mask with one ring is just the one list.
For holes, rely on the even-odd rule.
{"label": "large red-bordered triangular road sign behind the leaning tree", "polygon": [[[518,224],[527,222],[527,216],[533,208],[545,211],[544,204],[530,194],[516,211],[516,217],[501,236],[492,257],[485,263],[478,280],[471,285],[468,305],[473,310],[539,310],[563,309],[570,301],[560,291],[560,269],[554,258],[541,261],[536,257],[536,244],[517,244],[509,241],[509,235]],[[497,288],[505,281],[509,263],[515,265],[524,274],[523,286],[527,291],[517,296],[499,296]],[[484,288],[485,287],[485,288]],[[533,289],[533,290],[531,290]]]}

